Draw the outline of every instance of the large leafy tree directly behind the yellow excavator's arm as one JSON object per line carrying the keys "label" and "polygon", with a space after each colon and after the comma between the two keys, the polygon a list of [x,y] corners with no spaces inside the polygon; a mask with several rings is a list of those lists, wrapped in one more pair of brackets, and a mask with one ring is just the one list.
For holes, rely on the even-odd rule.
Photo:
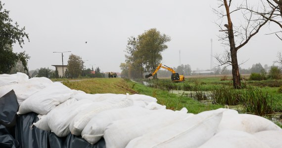
{"label": "large leafy tree directly behind the yellow excavator's arm", "polygon": [[[161,34],[155,28],[145,31],[138,37],[130,37],[126,48],[128,75],[141,78],[143,72],[151,72],[162,60],[161,52],[167,49],[170,37]],[[157,78],[157,74],[154,75]]]}

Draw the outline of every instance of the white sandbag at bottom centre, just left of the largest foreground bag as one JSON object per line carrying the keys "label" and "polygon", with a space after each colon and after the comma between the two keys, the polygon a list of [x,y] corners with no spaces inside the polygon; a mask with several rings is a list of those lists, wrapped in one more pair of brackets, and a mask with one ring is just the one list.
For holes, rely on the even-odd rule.
{"label": "white sandbag at bottom centre, just left of the largest foreground bag", "polygon": [[151,111],[154,112],[149,115],[112,122],[104,132],[106,147],[125,148],[132,139],[183,120],[191,115],[186,112],[175,112],[172,110]]}

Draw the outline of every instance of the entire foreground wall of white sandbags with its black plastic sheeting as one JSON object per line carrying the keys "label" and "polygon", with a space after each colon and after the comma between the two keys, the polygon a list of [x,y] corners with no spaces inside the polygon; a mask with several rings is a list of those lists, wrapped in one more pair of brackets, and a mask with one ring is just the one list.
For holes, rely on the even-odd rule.
{"label": "entire foreground wall of white sandbags with its black plastic sheeting", "polygon": [[230,109],[172,111],[150,96],[86,94],[21,73],[0,75],[1,96],[14,101],[0,105],[14,107],[0,123],[14,125],[0,126],[0,148],[282,147],[279,126]]}

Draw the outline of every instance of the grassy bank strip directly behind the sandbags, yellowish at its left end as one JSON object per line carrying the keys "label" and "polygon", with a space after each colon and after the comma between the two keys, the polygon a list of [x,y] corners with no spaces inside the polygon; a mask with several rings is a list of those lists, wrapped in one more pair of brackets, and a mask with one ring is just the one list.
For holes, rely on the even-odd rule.
{"label": "grassy bank strip directly behind the sandbags, yellowish at its left end", "polygon": [[222,108],[222,105],[204,105],[187,96],[178,96],[166,90],[151,88],[141,83],[122,78],[92,78],[81,80],[64,80],[62,83],[71,89],[82,90],[89,94],[115,93],[115,94],[144,94],[157,98],[159,104],[167,109],[181,110],[187,108],[191,113]]}

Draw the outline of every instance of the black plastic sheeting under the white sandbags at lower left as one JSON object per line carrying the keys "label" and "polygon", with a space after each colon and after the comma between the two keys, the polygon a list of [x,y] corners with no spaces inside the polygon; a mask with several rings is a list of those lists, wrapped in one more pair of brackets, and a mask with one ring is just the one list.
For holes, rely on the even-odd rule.
{"label": "black plastic sheeting under the white sandbags at lower left", "polygon": [[91,145],[81,136],[57,137],[51,131],[31,127],[39,120],[38,114],[17,116],[18,107],[13,90],[0,98],[0,148],[106,148],[103,138]]}

